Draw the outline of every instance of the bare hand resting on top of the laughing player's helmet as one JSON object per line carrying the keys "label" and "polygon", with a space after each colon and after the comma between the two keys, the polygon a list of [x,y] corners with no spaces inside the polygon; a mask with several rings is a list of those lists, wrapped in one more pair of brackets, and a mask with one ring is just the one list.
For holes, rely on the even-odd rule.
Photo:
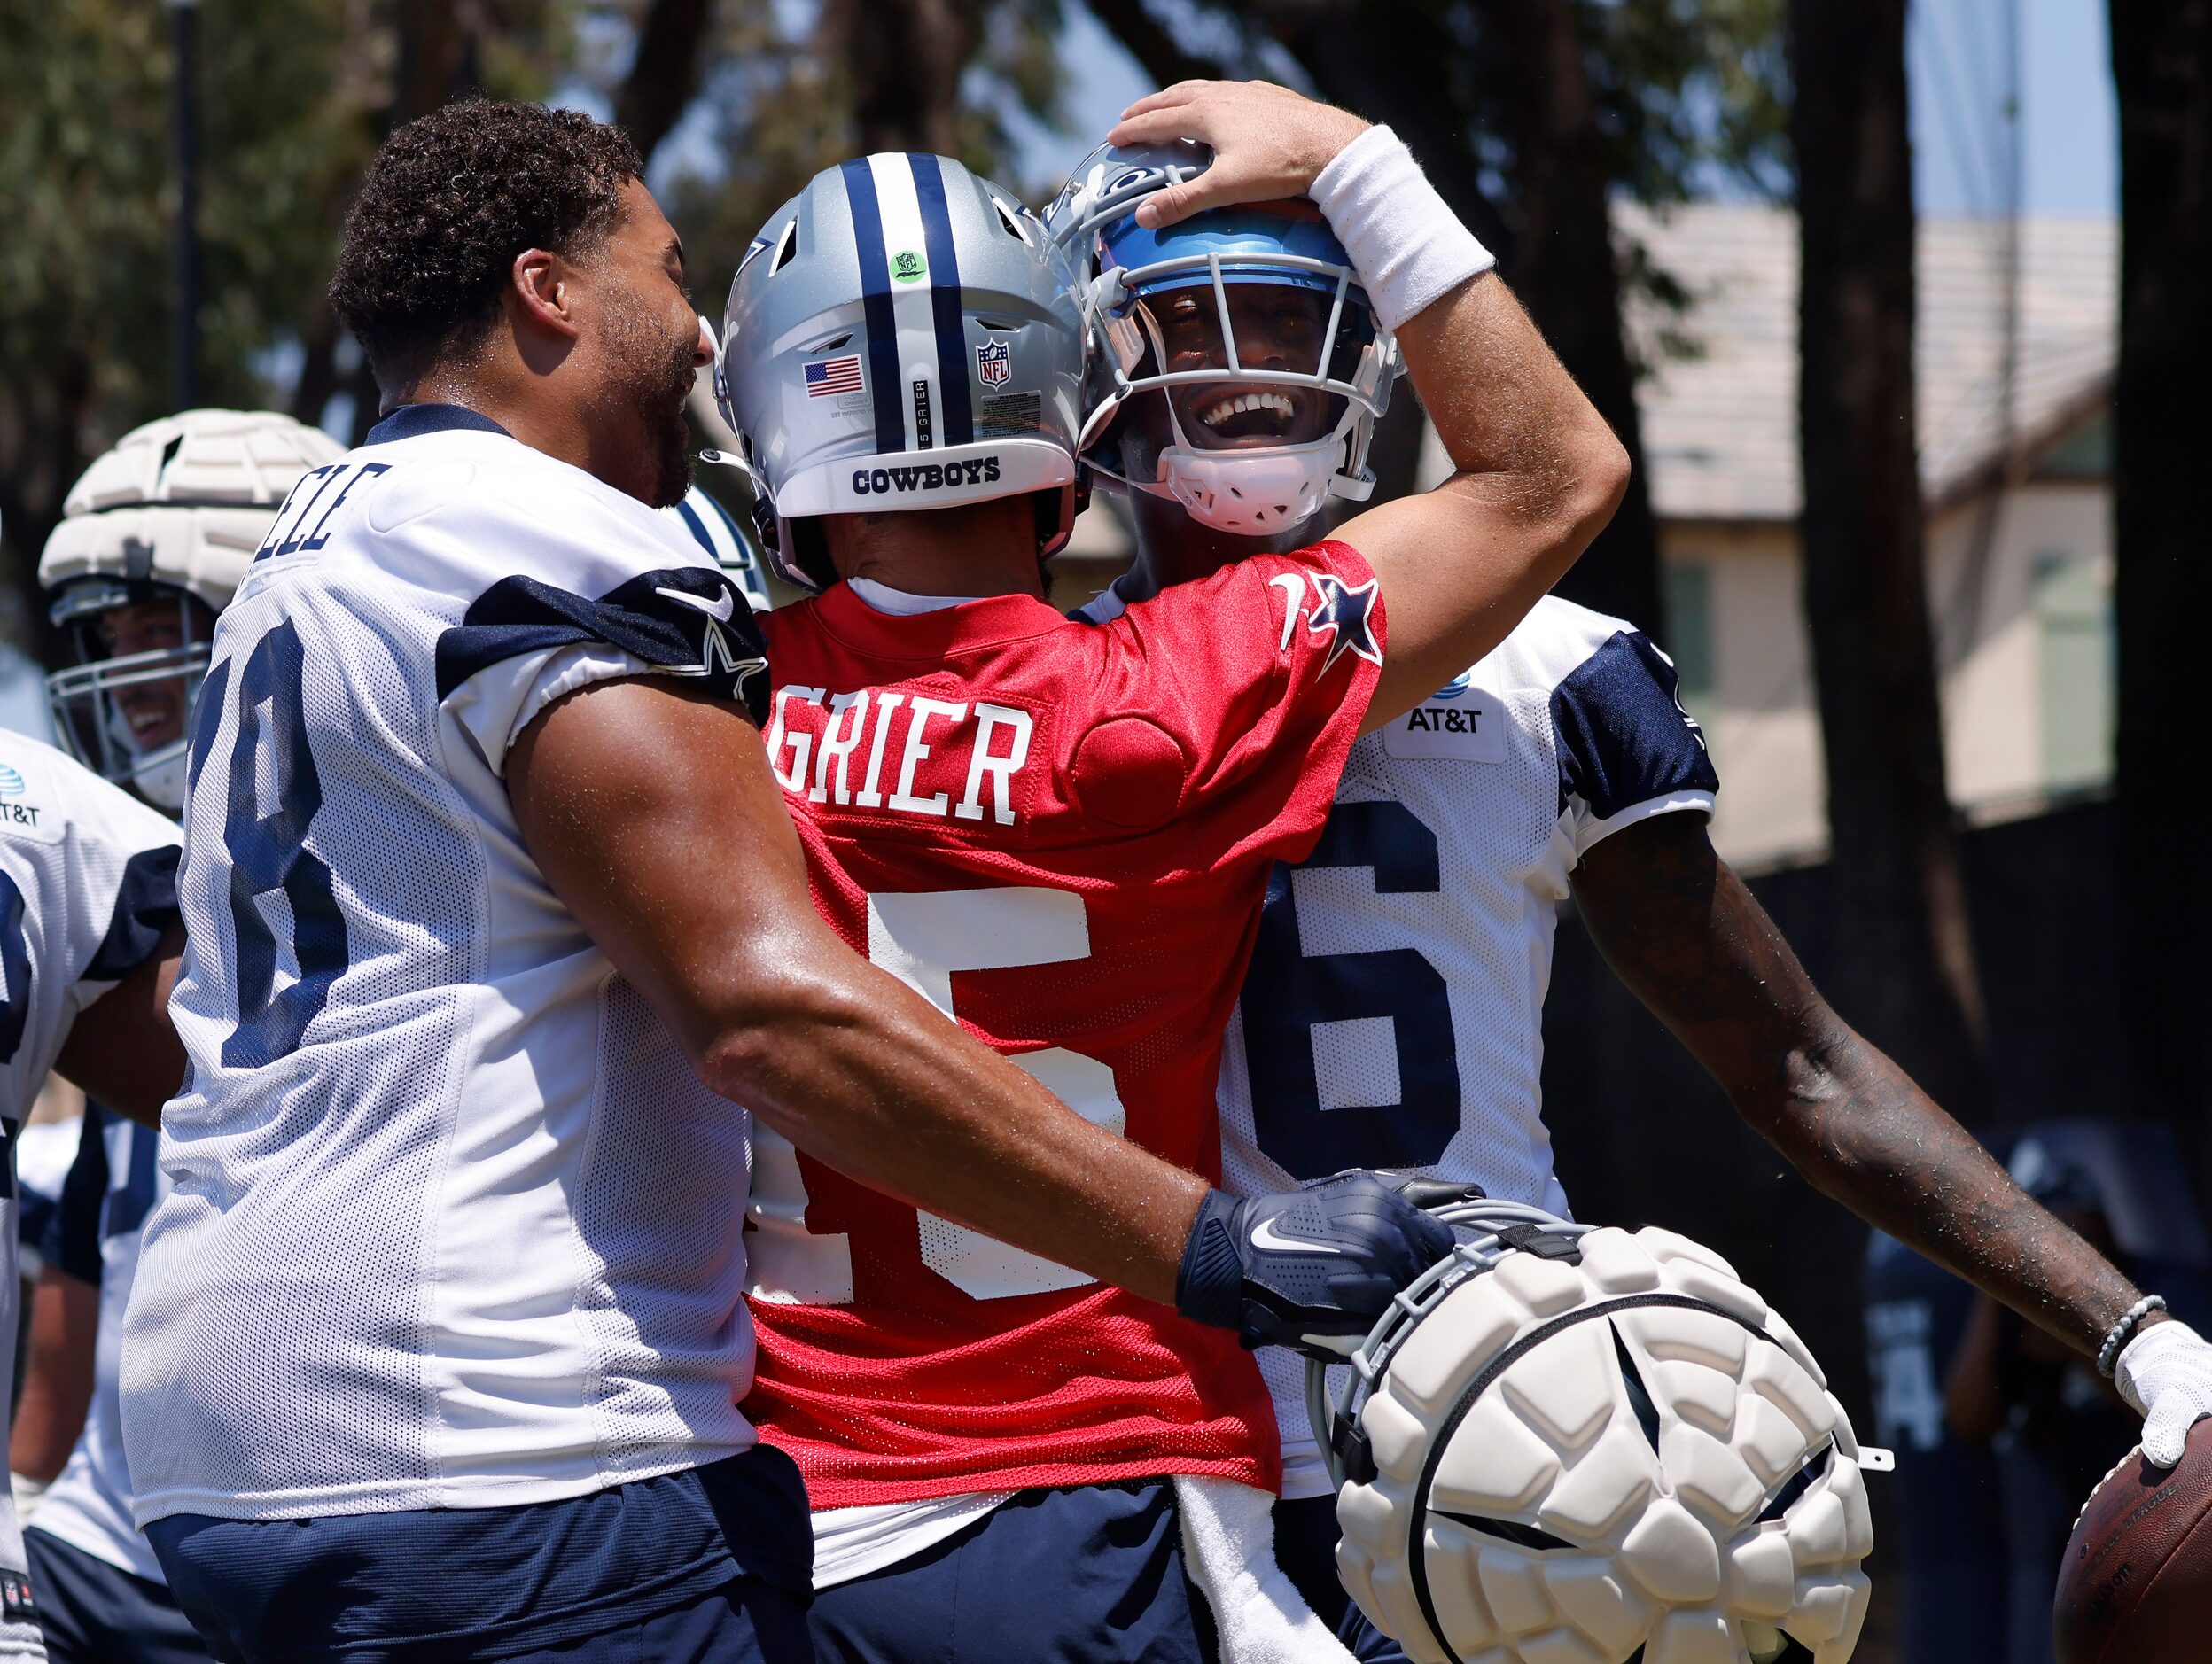
{"label": "bare hand resting on top of the laughing player's helmet", "polygon": [[1365,131],[1367,122],[1352,111],[1316,104],[1274,82],[1177,82],[1121,111],[1106,144],[1199,139],[1212,146],[1214,164],[1206,173],[1139,204],[1137,223],[1159,230],[1208,208],[1303,197]]}

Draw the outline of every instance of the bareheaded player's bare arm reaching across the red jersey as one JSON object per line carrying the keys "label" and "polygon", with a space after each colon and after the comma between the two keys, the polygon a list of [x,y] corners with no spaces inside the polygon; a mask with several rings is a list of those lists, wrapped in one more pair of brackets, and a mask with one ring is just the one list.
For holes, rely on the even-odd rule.
{"label": "bareheaded player's bare arm reaching across the red jersey", "polygon": [[750,719],[648,682],[588,688],[524,730],[507,779],[553,892],[714,1091],[878,1190],[1175,1301],[1206,1182],[836,938]]}

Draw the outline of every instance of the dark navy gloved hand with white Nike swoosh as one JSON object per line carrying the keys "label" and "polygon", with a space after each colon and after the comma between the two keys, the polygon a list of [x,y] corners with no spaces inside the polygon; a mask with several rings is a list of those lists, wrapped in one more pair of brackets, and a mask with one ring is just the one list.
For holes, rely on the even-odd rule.
{"label": "dark navy gloved hand with white Nike swoosh", "polygon": [[1451,1241],[1374,1173],[1259,1197],[1212,1190],[1183,1244],[1175,1306],[1245,1345],[1345,1356]]}

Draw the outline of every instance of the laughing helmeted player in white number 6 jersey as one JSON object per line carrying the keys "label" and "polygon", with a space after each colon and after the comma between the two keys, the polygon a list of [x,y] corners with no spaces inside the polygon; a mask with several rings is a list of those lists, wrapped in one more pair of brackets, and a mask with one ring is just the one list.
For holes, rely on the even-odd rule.
{"label": "laughing helmeted player in white number 6 jersey", "polygon": [[[1371,489],[1371,412],[1318,372],[1389,319],[1360,292],[1332,312],[1347,257],[1296,206],[1146,221],[1146,201],[1206,166],[1190,146],[1108,146],[1046,215],[1104,365],[1091,462],[1137,529],[1133,571],[1082,609],[1097,624],[1310,542],[1329,496]],[[2212,1412],[2212,1350],[2146,1317],[2119,1270],[1829,1009],[1714,854],[1717,790],[1666,655],[1557,597],[1363,737],[1314,852],[1267,892],[1223,1053],[1228,1184],[1405,1166],[1564,1213],[1540,1075],[1555,907],[1573,896],[1754,1129],[1874,1226],[2104,1350],[2108,1372],[2117,1352],[2146,1449],[2177,1460]],[[1261,1367],[1290,1498],[1279,1551],[1316,1609],[1343,1611],[1301,1361],[1263,1352]]]}

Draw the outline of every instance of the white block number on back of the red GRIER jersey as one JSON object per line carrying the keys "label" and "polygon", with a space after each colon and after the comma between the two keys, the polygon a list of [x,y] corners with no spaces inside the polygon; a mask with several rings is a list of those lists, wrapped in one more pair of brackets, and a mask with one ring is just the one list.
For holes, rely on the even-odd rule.
{"label": "white block number on back of the red GRIER jersey", "polygon": [[[953,971],[1064,965],[1091,956],[1084,898],[1066,890],[933,890],[867,898],[867,958],[953,1016]],[[1113,1069],[1077,1051],[1046,1047],[1009,1058],[1068,1109],[1110,1133],[1126,1131]],[[852,1301],[852,1244],[807,1228],[799,1153],[768,1126],[752,1126],[754,1299],[801,1306]],[[933,1213],[916,1215],[922,1263],[971,1299],[1048,1294],[1093,1281],[1042,1255],[1009,1248]]]}

